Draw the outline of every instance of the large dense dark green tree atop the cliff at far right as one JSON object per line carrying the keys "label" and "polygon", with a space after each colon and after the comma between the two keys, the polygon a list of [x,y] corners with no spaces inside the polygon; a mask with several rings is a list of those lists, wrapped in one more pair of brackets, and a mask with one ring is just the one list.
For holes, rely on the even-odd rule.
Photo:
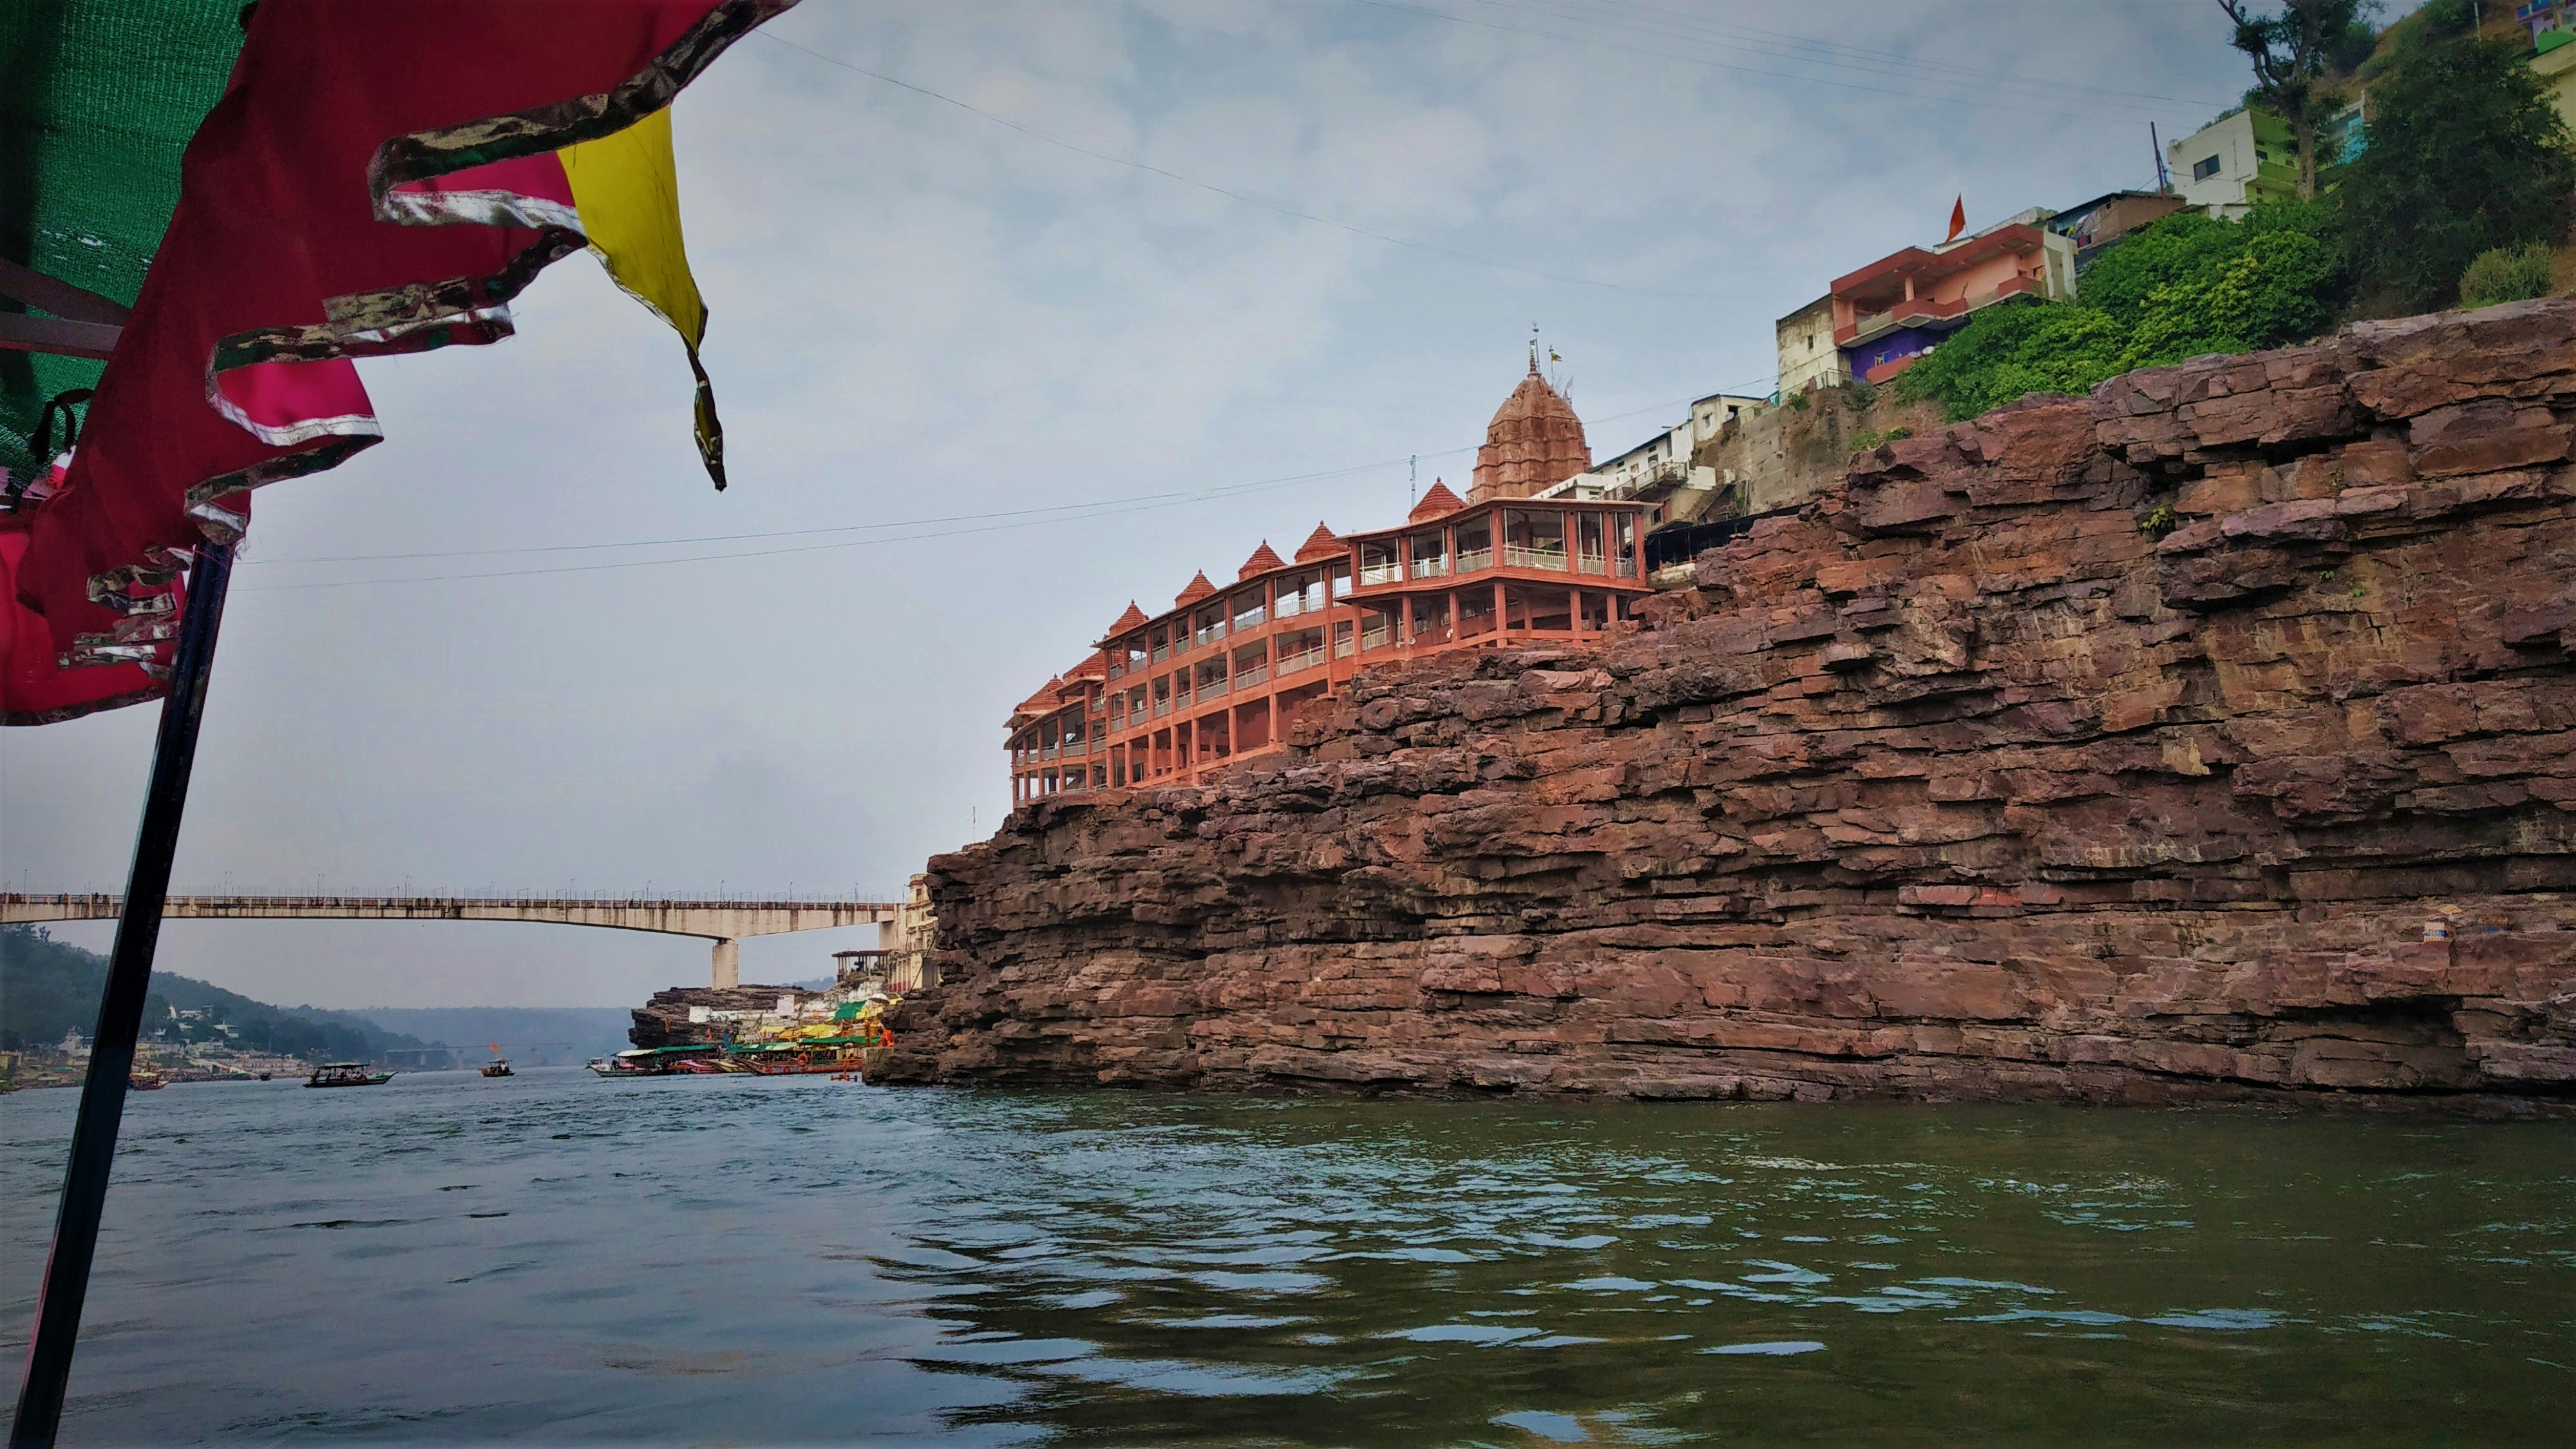
{"label": "large dense dark green tree atop the cliff at far right", "polygon": [[2370,90],[2370,147],[2342,180],[2344,240],[2380,312],[2447,307],[2486,250],[2558,242],[2576,150],[2512,41],[2411,52]]}

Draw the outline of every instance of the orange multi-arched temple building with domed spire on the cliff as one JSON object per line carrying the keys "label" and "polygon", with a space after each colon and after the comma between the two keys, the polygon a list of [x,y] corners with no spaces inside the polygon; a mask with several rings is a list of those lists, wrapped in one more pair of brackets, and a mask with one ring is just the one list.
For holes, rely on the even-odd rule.
{"label": "orange multi-arched temple building with domed spire on the cliff", "polygon": [[1200,572],[1010,714],[1010,799],[1198,784],[1280,748],[1298,706],[1360,670],[1502,645],[1574,642],[1628,619],[1646,583],[1646,503],[1530,498],[1592,467],[1582,420],[1538,374],[1494,413],[1468,500],[1432,482],[1396,529],[1316,523],[1283,559]]}

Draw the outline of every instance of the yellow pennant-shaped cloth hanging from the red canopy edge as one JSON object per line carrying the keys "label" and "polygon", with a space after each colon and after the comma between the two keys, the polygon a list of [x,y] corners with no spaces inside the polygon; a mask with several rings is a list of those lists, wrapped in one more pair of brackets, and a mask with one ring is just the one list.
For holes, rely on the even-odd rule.
{"label": "yellow pennant-shaped cloth hanging from the red canopy edge", "polygon": [[608,276],[688,343],[688,371],[698,376],[698,456],[721,490],[724,423],[716,420],[716,387],[698,364],[706,299],[698,297],[698,278],[688,273],[688,248],[680,240],[680,170],[670,157],[670,111],[654,111],[613,137],[569,144],[554,155],[572,183],[582,235],[608,266]]}

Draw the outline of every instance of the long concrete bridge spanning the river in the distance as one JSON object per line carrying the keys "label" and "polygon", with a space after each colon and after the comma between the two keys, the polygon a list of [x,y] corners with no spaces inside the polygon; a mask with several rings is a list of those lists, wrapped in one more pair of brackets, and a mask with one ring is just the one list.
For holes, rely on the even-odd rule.
{"label": "long concrete bridge spanning the river in the distance", "polygon": [[[0,895],[0,926],[116,920],[116,895]],[[902,949],[899,900],[647,900],[562,895],[173,895],[165,920],[538,920],[701,936],[716,944],[716,985],[742,985],[742,938],[876,923]]]}

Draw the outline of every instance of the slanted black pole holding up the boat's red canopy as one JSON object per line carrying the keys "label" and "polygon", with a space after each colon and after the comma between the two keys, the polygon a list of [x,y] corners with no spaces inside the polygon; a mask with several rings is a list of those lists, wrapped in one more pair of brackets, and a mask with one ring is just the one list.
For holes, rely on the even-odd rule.
{"label": "slanted black pole holding up the boat's red canopy", "polygon": [[170,696],[162,701],[160,737],[152,745],[144,820],[134,833],[134,874],[126,877],[126,902],[116,918],[108,990],[98,998],[90,1075],[80,1083],[72,1165],[62,1173],[54,1250],[44,1261],[36,1333],[26,1351],[26,1379],[18,1385],[18,1421],[8,1434],[10,1449],[49,1446],[62,1423],[62,1392],[72,1377],[80,1307],[90,1297],[98,1214],[108,1204],[116,1124],[126,1114],[134,1039],[142,1036],[144,995],[152,990],[152,944],[160,941],[160,913],[170,897],[170,856],[178,851],[178,822],[188,810],[188,768],[196,763],[196,727],[206,714],[206,673],[214,665],[214,634],[224,621],[229,583],[232,544],[198,547],[196,567],[188,570],[178,652],[170,657]]}

